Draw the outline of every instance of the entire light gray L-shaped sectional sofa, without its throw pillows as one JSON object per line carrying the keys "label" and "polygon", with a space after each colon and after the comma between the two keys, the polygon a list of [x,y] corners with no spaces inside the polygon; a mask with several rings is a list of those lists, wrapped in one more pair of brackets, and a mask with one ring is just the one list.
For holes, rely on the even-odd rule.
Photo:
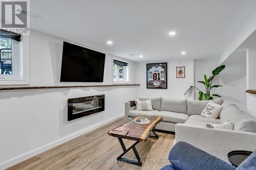
{"label": "entire light gray L-shaped sectional sofa, without its throw pillows", "polygon": [[[200,115],[209,101],[139,97],[141,101],[150,99],[153,111],[136,110],[135,101],[126,102],[125,122],[140,114],[162,116],[156,129],[175,132],[175,143],[185,141],[227,162],[227,153],[232,150],[256,150],[256,119],[234,104],[212,100],[222,105],[222,110],[219,118],[209,119]],[[233,130],[206,127],[227,121],[232,122]]]}

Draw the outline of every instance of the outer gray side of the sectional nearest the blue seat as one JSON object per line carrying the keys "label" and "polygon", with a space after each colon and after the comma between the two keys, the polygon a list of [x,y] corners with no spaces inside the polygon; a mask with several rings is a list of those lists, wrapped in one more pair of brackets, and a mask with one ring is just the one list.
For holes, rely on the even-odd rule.
{"label": "outer gray side of the sectional nearest the blue seat", "polygon": [[176,124],[175,143],[185,141],[226,162],[233,150],[256,150],[256,133]]}

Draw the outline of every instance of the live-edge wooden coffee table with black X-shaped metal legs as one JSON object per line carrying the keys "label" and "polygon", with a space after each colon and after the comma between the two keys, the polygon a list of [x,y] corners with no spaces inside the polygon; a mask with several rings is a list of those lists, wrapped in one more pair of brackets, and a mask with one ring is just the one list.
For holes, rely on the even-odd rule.
{"label": "live-edge wooden coffee table with black X-shaped metal legs", "polygon": [[[147,125],[139,125],[134,122],[134,119],[139,118],[139,117],[146,117],[150,120],[150,124]],[[138,154],[138,151],[136,150],[136,144],[139,142],[145,142],[147,141],[148,137],[155,137],[158,138],[158,135],[154,131],[156,125],[161,122],[163,119],[162,117],[156,117],[156,116],[145,116],[145,115],[139,115],[135,117],[131,122],[124,124],[122,126],[119,126],[115,129],[112,129],[111,131],[108,132],[110,136],[117,137],[121,147],[123,149],[123,153],[117,157],[118,161],[126,162],[126,163],[131,163],[134,165],[141,166],[142,161],[140,159],[140,156]],[[150,135],[151,132],[154,134],[154,136]],[[122,139],[129,139],[129,140],[135,140],[136,142],[126,149],[123,140]],[[128,151],[133,149],[133,152],[137,158],[137,160],[134,159],[128,159],[128,158],[123,158],[122,156],[126,154]]]}

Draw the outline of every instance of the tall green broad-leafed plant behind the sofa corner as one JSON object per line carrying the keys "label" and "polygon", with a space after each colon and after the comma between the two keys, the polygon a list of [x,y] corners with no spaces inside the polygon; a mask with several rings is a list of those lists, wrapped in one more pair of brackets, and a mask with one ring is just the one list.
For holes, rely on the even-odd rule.
{"label": "tall green broad-leafed plant behind the sofa corner", "polygon": [[[190,86],[187,91],[191,88],[195,88],[197,90],[199,90],[199,98],[198,100],[202,101],[202,100],[212,100],[214,99],[213,96],[219,97],[221,98],[221,96],[219,94],[211,94],[211,89],[212,88],[217,88],[217,87],[221,87],[221,85],[212,85],[212,80],[214,80],[216,75],[219,75],[220,72],[225,68],[225,65],[221,65],[217,68],[215,68],[211,73],[212,76],[210,76],[209,78],[207,78],[206,75],[204,75],[204,81],[198,81],[199,83],[204,84],[205,86],[205,92],[199,90],[197,87],[195,86]],[[187,93],[187,91],[185,92],[185,94]],[[184,95],[185,95],[184,94]]]}

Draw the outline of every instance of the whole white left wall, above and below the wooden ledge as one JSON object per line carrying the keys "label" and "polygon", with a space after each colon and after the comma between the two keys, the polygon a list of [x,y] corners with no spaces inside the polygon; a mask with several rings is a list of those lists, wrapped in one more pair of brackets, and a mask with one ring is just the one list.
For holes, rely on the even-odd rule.
{"label": "whole white left wall, above and below the wooden ledge", "polygon": [[[59,83],[63,39],[30,33],[31,86],[111,84],[109,54],[105,59],[103,83]],[[131,83],[135,83],[136,63],[128,62]],[[67,121],[69,98],[96,94],[105,94],[105,111]],[[0,169],[123,116],[124,102],[136,98],[137,86],[1,91]]]}

